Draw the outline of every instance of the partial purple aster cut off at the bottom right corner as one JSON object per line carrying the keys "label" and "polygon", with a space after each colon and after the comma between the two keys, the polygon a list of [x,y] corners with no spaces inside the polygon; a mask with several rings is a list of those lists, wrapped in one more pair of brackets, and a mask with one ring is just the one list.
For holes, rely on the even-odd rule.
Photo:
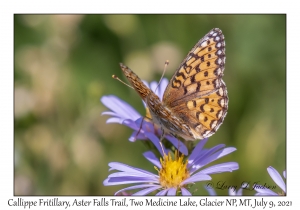
{"label": "partial purple aster cut off at the bottom right corner", "polygon": [[[267,168],[269,175],[273,179],[273,181],[282,189],[282,192],[275,193],[272,190],[268,189],[265,186],[262,185],[255,185],[253,188],[257,192],[255,195],[285,195],[286,194],[286,185],[283,181],[282,177],[278,173],[278,171],[273,168],[272,166],[269,166]],[[283,171],[283,177],[286,179],[286,171]]]}

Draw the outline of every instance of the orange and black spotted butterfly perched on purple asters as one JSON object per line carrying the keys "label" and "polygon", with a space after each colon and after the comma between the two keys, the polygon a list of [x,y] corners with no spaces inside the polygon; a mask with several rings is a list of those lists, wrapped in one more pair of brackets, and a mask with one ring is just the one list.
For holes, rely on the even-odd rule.
{"label": "orange and black spotted butterfly perched on purple asters", "polygon": [[222,80],[225,41],[218,28],[208,32],[188,53],[171,78],[162,101],[127,66],[120,67],[160,126],[162,137],[172,134],[185,140],[213,135],[228,110],[228,95]]}

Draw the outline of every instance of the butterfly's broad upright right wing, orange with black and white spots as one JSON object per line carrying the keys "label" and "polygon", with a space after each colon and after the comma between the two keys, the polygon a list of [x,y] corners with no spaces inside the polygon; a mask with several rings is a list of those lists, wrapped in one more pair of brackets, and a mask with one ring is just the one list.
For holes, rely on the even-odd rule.
{"label": "butterfly's broad upright right wing, orange with black and white spots", "polygon": [[224,35],[212,29],[188,53],[164,93],[163,104],[189,122],[199,138],[215,133],[226,116],[224,64]]}

